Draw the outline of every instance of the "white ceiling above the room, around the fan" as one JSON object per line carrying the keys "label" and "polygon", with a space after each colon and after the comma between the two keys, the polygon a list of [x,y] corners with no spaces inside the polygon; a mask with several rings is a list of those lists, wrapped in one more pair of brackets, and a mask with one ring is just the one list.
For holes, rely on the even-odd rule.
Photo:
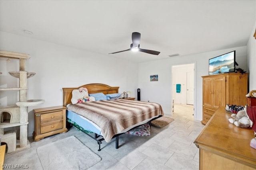
{"label": "white ceiling above the room, around the fan", "polygon": [[[245,46],[255,8],[256,0],[0,0],[0,31],[144,62]],[[161,53],[108,54],[129,49],[132,32]]]}

